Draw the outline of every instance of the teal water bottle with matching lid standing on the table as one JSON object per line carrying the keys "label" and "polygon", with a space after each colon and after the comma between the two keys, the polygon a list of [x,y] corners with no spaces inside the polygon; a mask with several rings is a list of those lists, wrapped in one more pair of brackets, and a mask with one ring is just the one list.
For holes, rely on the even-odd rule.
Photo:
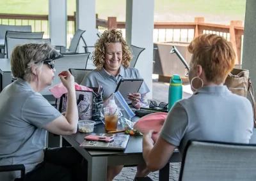
{"label": "teal water bottle with matching lid standing on the table", "polygon": [[179,101],[182,99],[182,79],[179,75],[172,75],[170,79],[170,85],[169,85],[169,94],[168,94],[168,112],[176,103],[176,101]]}

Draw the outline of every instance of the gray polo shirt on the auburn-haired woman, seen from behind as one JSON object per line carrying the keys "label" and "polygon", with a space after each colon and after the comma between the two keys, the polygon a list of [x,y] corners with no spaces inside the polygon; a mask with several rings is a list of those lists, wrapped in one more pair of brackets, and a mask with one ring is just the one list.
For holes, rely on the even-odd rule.
{"label": "gray polo shirt on the auburn-haired woman, seen from behind", "polygon": [[173,105],[160,136],[183,153],[188,140],[249,143],[253,131],[250,101],[227,86],[207,86]]}

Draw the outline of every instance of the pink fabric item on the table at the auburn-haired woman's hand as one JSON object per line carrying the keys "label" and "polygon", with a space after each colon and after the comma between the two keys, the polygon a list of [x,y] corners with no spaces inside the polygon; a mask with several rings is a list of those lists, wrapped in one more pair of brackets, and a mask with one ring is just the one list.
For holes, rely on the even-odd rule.
{"label": "pink fabric item on the table at the auburn-haired woman's hand", "polygon": [[157,131],[156,134],[152,135],[152,139],[154,142],[156,142],[167,115],[168,113],[165,112],[150,113],[145,115],[134,124],[134,129],[143,134],[148,133],[148,131],[152,129]]}

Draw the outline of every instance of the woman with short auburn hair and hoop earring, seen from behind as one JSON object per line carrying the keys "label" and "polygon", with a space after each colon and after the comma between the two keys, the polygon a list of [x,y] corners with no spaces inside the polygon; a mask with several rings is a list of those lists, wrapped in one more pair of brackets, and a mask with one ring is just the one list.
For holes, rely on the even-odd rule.
{"label": "woman with short auburn hair and hoop earring, seen from behind", "polygon": [[163,168],[176,147],[182,154],[188,140],[249,143],[252,136],[250,101],[223,85],[236,58],[231,43],[216,34],[204,34],[188,50],[193,54],[189,82],[194,93],[173,105],[156,143],[153,130],[144,134],[143,157],[150,171]]}

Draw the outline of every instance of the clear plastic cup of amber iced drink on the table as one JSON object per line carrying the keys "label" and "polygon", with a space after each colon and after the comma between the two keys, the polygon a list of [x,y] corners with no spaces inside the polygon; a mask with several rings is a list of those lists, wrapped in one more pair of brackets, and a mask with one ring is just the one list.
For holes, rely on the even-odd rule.
{"label": "clear plastic cup of amber iced drink on the table", "polygon": [[118,124],[118,108],[104,108],[105,127],[107,131],[115,131]]}

